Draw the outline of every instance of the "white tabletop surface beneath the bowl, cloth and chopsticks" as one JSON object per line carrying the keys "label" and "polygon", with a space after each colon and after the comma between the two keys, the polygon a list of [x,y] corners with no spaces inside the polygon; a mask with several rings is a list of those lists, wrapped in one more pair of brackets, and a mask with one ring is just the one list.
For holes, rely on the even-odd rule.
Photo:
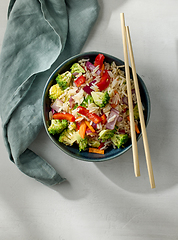
{"label": "white tabletop surface beneath the bowl, cloth and chopsticks", "polygon": [[[0,239],[178,239],[178,1],[99,0],[97,24],[83,51],[123,59],[120,13],[130,26],[136,68],[151,97],[147,128],[156,189],[151,189],[142,140],[141,176],[132,151],[104,163],[60,152],[41,131],[31,148],[68,179],[48,188],[10,162],[0,133]],[[8,1],[0,1],[0,47]]]}

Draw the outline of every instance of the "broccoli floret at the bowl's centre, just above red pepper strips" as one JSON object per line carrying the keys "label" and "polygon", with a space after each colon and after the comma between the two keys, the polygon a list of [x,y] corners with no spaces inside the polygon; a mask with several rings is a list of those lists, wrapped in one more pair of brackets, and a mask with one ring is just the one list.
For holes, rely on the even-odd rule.
{"label": "broccoli floret at the bowl's centre, just above red pepper strips", "polygon": [[108,92],[91,92],[93,97],[94,103],[99,107],[105,107],[106,104],[109,102],[109,94]]}

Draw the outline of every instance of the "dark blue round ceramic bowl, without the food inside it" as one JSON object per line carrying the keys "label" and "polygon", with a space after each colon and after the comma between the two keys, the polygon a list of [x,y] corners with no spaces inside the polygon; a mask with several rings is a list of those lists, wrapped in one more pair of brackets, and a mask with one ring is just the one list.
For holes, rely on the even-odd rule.
{"label": "dark blue round ceramic bowl, without the food inside it", "polygon": [[[43,114],[43,122],[44,126],[46,129],[46,132],[49,136],[49,138],[52,140],[52,142],[64,153],[69,155],[70,157],[73,157],[75,159],[83,160],[83,161],[88,161],[88,162],[101,162],[101,161],[106,161],[110,160],[116,157],[119,157],[120,155],[124,154],[126,151],[128,151],[131,147],[131,141],[128,141],[127,144],[125,145],[125,148],[117,148],[114,149],[112,146],[110,146],[107,150],[105,150],[104,154],[96,154],[96,153],[89,153],[87,151],[79,152],[77,146],[66,146],[63,143],[59,143],[58,139],[50,135],[48,133],[48,126],[49,126],[49,111],[50,111],[50,99],[48,97],[48,92],[49,88],[55,84],[55,78],[58,74],[62,74],[63,72],[67,71],[70,69],[73,63],[78,62],[79,60],[86,58],[90,59],[91,62],[94,62],[95,57],[101,52],[85,52],[81,53],[78,55],[75,55],[66,61],[64,61],[62,64],[60,64],[56,70],[51,74],[49,79],[47,80],[47,83],[45,85],[44,91],[43,91],[43,101],[42,101],[42,114]],[[102,53],[105,56],[105,61],[106,62],[113,62],[115,61],[117,65],[124,65],[124,62],[114,56],[111,56],[106,53]],[[131,71],[131,68],[130,68]],[[130,72],[131,78],[132,78],[132,73]],[[141,79],[141,77],[137,74],[138,77],[138,83],[139,83],[139,88],[140,88],[140,95],[141,95],[141,100],[143,107],[145,109],[144,111],[144,118],[145,118],[145,125],[147,126],[149,118],[150,118],[150,97],[148,90],[145,86],[145,83]],[[141,133],[137,135],[137,141],[141,137]]]}

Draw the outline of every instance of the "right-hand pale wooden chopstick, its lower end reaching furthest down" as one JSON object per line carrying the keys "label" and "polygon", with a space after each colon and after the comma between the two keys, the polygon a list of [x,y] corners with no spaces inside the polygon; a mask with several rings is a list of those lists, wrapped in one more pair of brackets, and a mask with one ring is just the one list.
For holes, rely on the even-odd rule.
{"label": "right-hand pale wooden chopstick, its lower end reaching furthest down", "polygon": [[135,60],[134,60],[132,43],[131,43],[130,32],[129,32],[128,26],[126,26],[126,36],[127,36],[127,40],[128,40],[130,62],[131,62],[133,80],[134,80],[134,85],[135,85],[135,93],[136,93],[136,97],[137,97],[137,104],[138,104],[138,111],[139,111],[139,116],[140,116],[140,125],[141,125],[142,136],[143,136],[143,143],[144,143],[144,149],[145,149],[148,175],[149,175],[151,188],[155,188],[155,180],[154,180],[154,175],[153,175],[153,168],[152,168],[152,163],[151,163],[150,150],[149,150],[149,145],[148,145],[148,138],[147,138],[147,133],[146,133],[145,120],[144,120],[142,102],[141,102],[141,97],[140,97],[140,90],[139,90],[139,86],[138,86],[138,79],[137,79],[137,73],[136,73],[136,68],[135,68]]}

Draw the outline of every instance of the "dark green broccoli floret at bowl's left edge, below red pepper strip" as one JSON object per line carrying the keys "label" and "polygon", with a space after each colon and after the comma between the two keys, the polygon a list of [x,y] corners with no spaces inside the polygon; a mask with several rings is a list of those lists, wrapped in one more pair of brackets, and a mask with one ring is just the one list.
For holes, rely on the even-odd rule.
{"label": "dark green broccoli floret at bowl's left edge, below red pepper strip", "polygon": [[68,121],[65,119],[52,119],[51,125],[48,127],[48,132],[52,135],[61,133],[68,126]]}

